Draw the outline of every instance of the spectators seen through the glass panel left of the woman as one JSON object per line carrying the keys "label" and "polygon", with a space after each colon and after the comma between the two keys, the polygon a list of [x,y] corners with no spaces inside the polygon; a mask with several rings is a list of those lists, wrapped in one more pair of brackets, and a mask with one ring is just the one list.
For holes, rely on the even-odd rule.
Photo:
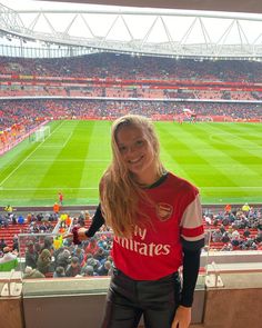
{"label": "spectators seen through the glass panel left of the woman", "polygon": [[[85,215],[81,213],[73,219],[74,226],[84,226]],[[58,237],[59,238],[59,237]],[[71,239],[56,242],[56,238],[37,237],[34,233],[27,237],[24,277],[90,277],[109,276],[112,271],[112,232],[107,228],[95,237],[74,245]]]}

